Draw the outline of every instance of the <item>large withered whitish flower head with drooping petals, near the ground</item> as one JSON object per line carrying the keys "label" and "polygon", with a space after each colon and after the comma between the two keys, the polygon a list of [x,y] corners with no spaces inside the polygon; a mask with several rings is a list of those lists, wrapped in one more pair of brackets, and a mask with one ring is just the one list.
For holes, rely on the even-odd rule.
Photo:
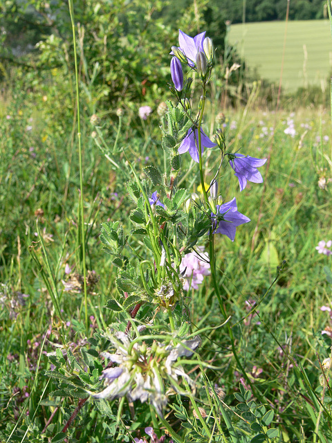
{"label": "large withered whitish flower head with drooping petals, near the ground", "polygon": [[[102,355],[118,366],[102,371],[106,388],[91,395],[95,399],[116,399],[127,396],[129,401],[149,401],[156,408],[158,415],[163,416],[163,406],[167,404],[164,380],[169,381],[172,388],[178,392],[178,376],[192,384],[192,380],[178,365],[178,358],[191,356],[201,344],[199,336],[185,340],[177,345],[152,343],[148,347],[144,341],[132,344],[124,332],[107,334],[116,352],[104,352]],[[176,367],[174,367],[176,362]],[[151,429],[151,432],[153,430]]]}

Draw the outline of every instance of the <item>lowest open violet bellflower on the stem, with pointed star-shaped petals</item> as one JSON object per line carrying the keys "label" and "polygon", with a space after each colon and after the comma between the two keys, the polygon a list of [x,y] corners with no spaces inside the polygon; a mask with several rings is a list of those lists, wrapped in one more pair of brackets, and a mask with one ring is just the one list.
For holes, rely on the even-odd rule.
{"label": "lowest open violet bellflower on the stem, with pointed star-shaped petals", "polygon": [[232,199],[223,205],[216,205],[217,214],[211,214],[214,220],[214,234],[227,235],[234,242],[237,226],[248,223],[250,219],[239,213],[237,210],[237,200]]}

